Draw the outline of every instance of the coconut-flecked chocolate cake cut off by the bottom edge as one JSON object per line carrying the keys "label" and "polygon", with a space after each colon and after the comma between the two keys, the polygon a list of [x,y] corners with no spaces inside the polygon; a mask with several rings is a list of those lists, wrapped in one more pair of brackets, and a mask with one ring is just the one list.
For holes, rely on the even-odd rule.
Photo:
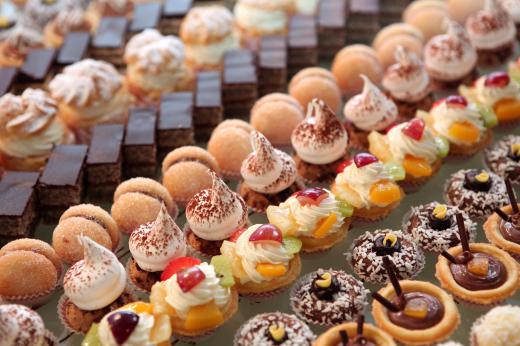
{"label": "coconut-flecked chocolate cake cut off by the bottom edge", "polygon": [[312,330],[298,317],[283,312],[268,312],[247,320],[235,334],[233,346],[311,346]]}

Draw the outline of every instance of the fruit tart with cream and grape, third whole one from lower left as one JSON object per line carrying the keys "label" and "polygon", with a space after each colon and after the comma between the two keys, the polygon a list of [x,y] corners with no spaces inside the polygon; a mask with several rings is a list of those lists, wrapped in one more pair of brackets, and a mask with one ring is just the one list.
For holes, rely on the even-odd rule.
{"label": "fruit tart with cream and grape, third whole one from lower left", "polygon": [[267,208],[269,222],[302,241],[303,252],[327,250],[347,235],[352,208],[328,190],[307,188]]}

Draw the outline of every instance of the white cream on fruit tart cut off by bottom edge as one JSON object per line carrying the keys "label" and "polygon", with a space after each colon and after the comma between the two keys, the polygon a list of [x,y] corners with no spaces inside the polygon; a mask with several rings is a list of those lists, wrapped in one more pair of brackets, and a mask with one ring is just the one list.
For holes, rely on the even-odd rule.
{"label": "white cream on fruit tart cut off by bottom edge", "polygon": [[114,334],[112,334],[112,330],[110,329],[110,325],[108,324],[108,317],[114,313],[117,313],[121,310],[113,311],[101,320],[99,323],[98,329],[98,337],[101,342],[101,346],[155,346],[156,343],[150,341],[150,334],[152,332],[153,325],[155,323],[155,317],[150,314],[141,313],[137,314],[139,316],[139,321],[135,326],[135,329],[132,331],[128,339],[122,343],[117,343],[114,338]]}

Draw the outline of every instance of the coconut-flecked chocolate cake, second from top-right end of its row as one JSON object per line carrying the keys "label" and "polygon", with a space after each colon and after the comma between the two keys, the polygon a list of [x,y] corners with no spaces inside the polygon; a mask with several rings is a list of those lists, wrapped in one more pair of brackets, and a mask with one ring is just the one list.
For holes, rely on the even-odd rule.
{"label": "coconut-flecked chocolate cake, second from top-right end of its row", "polygon": [[455,172],[446,182],[444,196],[448,204],[458,206],[477,219],[484,219],[496,208],[508,204],[504,181],[486,170]]}

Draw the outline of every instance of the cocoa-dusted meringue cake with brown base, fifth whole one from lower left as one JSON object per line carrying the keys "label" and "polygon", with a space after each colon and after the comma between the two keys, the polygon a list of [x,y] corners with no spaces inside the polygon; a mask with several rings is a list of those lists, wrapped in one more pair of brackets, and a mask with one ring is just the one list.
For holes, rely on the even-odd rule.
{"label": "cocoa-dusted meringue cake with brown base, fifth whole one from lower left", "polygon": [[348,134],[334,111],[313,99],[305,120],[293,130],[291,143],[298,175],[309,182],[330,182],[346,159]]}

